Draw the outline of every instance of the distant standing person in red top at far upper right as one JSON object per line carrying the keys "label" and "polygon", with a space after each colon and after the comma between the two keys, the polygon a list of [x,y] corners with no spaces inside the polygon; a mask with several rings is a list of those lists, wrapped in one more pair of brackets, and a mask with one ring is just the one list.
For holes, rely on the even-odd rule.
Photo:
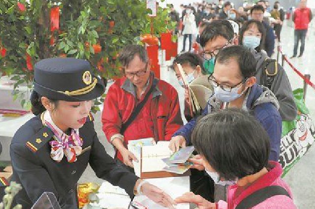
{"label": "distant standing person in red top at far upper right", "polygon": [[313,15],[310,8],[306,7],[306,0],[301,0],[299,4],[299,8],[294,11],[292,16],[292,20],[294,22],[294,50],[293,56],[290,58],[296,57],[297,55],[297,47],[299,45],[299,40],[301,40],[301,48],[300,55],[301,57],[304,52],[305,46],[305,36],[307,33],[307,29],[309,27],[309,23],[312,21]]}

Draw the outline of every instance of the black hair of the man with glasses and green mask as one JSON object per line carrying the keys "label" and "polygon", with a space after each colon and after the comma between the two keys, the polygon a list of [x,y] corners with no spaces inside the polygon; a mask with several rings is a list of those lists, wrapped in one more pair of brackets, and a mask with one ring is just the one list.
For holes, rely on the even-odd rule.
{"label": "black hair of the man with glasses and green mask", "polygon": [[234,37],[233,27],[227,20],[215,20],[206,26],[200,35],[200,45],[205,47],[208,41],[219,36],[222,36],[228,41]]}

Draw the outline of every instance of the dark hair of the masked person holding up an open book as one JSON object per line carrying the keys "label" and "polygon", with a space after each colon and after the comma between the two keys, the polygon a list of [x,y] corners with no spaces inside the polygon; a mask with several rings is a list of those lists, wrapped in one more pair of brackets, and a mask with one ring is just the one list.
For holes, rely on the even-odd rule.
{"label": "dark hair of the masked person holding up an open book", "polygon": [[206,75],[207,72],[203,67],[203,61],[201,59],[201,57],[198,54],[195,53],[191,53],[191,52],[185,52],[182,54],[178,54],[174,61],[173,61],[173,67],[176,65],[176,63],[178,64],[189,64],[190,67],[195,68],[196,66],[200,66],[201,67],[201,73],[203,75]]}

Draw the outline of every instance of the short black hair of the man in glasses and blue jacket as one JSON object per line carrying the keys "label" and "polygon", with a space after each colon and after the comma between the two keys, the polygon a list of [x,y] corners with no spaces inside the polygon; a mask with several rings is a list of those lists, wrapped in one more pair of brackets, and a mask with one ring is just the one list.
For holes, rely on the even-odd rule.
{"label": "short black hair of the man in glasses and blue jacket", "polygon": [[234,45],[220,50],[216,56],[216,64],[228,63],[233,58],[236,59],[243,78],[250,78],[255,75],[256,60],[251,50],[244,46]]}

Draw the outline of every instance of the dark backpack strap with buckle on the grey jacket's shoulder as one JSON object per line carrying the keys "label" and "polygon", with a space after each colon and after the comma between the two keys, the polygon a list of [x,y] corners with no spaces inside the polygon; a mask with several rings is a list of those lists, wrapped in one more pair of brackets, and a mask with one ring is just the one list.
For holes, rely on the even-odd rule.
{"label": "dark backpack strap with buckle on the grey jacket's shoulder", "polygon": [[262,84],[271,89],[275,76],[278,74],[278,62],[275,59],[266,58],[262,69]]}

